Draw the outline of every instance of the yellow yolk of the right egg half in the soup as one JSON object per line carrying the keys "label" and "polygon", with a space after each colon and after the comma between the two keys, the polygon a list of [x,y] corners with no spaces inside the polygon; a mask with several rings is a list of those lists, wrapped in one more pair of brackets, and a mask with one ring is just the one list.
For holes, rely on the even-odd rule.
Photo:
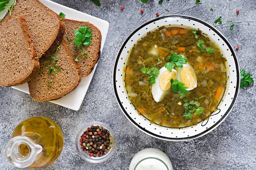
{"label": "yellow yolk of the right egg half in the soup", "polygon": [[194,88],[195,76],[189,67],[183,67],[180,71],[180,81],[184,83],[187,88]]}

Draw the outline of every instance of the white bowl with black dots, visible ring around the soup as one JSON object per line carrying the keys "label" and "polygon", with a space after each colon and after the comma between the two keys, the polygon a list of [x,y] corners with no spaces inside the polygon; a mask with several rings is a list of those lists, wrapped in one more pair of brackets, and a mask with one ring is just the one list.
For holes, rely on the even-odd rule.
{"label": "white bowl with black dots, visible ring around the soup", "polygon": [[[213,112],[209,119],[199,122],[198,125],[183,128],[169,128],[156,124],[150,124],[150,120],[145,118],[143,115],[139,115],[136,108],[128,99],[124,82],[125,73],[123,71],[126,67],[129,51],[132,47],[134,47],[136,42],[143,39],[143,37],[145,37],[149,31],[154,31],[156,28],[161,26],[172,25],[179,27],[189,26],[194,29],[201,30],[202,34],[207,34],[212,42],[218,44],[218,47],[221,49],[222,56],[227,59],[226,68],[229,70],[227,71],[227,88],[225,89],[221,102],[218,105],[218,110]],[[169,15],[158,17],[154,20],[150,20],[147,23],[144,23],[142,26],[133,31],[131,35],[125,40],[116,57],[113,71],[113,85],[116,99],[120,105],[120,108],[128,120],[137,128],[158,139],[169,141],[185,141],[195,139],[209,133],[218,125],[220,125],[221,122],[223,122],[224,119],[228,116],[231,109],[233,108],[239,92],[240,71],[234,49],[227,41],[227,39],[213,26],[194,17]]]}

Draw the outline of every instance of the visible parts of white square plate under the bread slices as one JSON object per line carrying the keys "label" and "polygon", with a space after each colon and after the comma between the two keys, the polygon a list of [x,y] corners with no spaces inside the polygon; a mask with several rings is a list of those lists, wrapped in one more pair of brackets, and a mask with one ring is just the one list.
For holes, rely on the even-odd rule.
{"label": "visible parts of white square plate under the bread slices", "polygon": [[[52,11],[56,12],[59,14],[60,12],[63,12],[66,14],[65,18],[67,19],[72,19],[72,20],[79,20],[79,21],[89,21],[93,25],[99,28],[102,34],[102,43],[101,43],[101,51],[103,49],[107,33],[108,33],[108,28],[109,28],[109,23],[105,20],[90,16],[88,14],[84,14],[80,11],[76,11],[72,8],[68,8],[66,6],[62,6],[58,3],[52,2],[50,0],[40,0],[41,3],[43,3],[45,6],[50,8]],[[93,71],[91,74],[89,74],[87,77],[84,77],[81,79],[81,82],[79,86],[76,88],[76,90],[72,91],[70,94],[67,94],[66,96],[62,97],[61,99],[50,101],[52,103],[55,103],[57,105],[64,106],[66,108],[70,108],[72,110],[78,111],[83,100],[84,96],[88,90],[88,87],[90,85],[90,82],[93,78],[94,71],[96,69],[97,64],[95,65]],[[12,88],[15,88],[19,91],[23,91],[27,94],[29,94],[29,87],[28,84],[23,84],[23,85],[18,85],[14,86]]]}

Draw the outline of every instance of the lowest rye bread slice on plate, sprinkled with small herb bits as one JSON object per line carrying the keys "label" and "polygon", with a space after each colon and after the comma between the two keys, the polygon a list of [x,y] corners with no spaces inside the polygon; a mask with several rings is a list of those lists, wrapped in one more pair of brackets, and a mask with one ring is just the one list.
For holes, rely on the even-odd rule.
{"label": "lowest rye bread slice on plate, sprinkled with small herb bits", "polygon": [[[53,57],[58,59],[54,60]],[[38,102],[59,99],[75,90],[81,81],[79,66],[65,39],[53,57],[41,57],[38,74],[28,82],[30,96]],[[55,68],[56,72],[52,70],[49,74],[49,68]]]}

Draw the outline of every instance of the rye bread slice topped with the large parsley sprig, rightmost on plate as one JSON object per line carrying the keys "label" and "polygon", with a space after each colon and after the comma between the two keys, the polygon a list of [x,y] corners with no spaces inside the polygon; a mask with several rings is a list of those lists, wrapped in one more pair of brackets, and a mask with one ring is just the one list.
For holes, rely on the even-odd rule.
{"label": "rye bread slice topped with the large parsley sprig, rightmost on plate", "polygon": [[[102,39],[101,32],[96,26],[94,26],[89,22],[75,21],[75,20],[68,20],[68,19],[64,19],[64,22],[66,24],[66,31],[64,34],[64,38],[67,40],[67,44],[73,56],[77,57],[80,55],[80,57],[77,58],[78,59],[77,64],[81,69],[82,77],[86,77],[93,71],[94,65],[99,60],[100,45],[101,45],[101,39]],[[73,49],[73,47],[75,46],[74,31],[78,30],[79,26],[89,26],[88,29],[92,30],[92,36],[93,36],[90,46],[86,47],[83,45],[82,52],[88,53],[86,54],[87,57],[84,57],[84,58],[82,57],[81,55],[82,52],[79,50],[78,47],[76,47],[77,51]],[[69,40],[68,37],[72,38],[72,40]]]}

